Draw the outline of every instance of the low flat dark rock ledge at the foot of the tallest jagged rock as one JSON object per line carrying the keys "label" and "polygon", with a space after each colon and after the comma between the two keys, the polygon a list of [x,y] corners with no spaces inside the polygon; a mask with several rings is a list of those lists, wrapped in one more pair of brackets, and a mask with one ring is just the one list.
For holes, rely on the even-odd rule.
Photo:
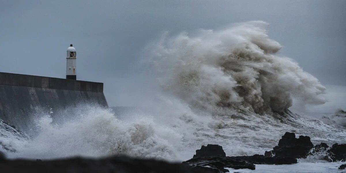
{"label": "low flat dark rock ledge at the foot of the tallest jagged rock", "polygon": [[231,156],[232,158],[238,158],[247,161],[252,164],[270,164],[270,165],[284,165],[297,163],[296,158],[292,157],[266,157],[264,155],[255,154],[253,156]]}

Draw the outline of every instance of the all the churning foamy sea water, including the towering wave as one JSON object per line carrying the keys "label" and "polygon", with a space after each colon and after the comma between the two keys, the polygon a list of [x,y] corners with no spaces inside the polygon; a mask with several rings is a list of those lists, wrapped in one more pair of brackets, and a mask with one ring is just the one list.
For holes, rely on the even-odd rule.
{"label": "all the churning foamy sea water, including the towering wave", "polygon": [[[66,119],[40,112],[30,138],[0,137],[15,152],[0,150],[9,158],[128,155],[181,162],[207,144],[221,145],[228,156],[264,154],[286,131],[310,136],[313,144],[345,143],[344,126],[289,111],[293,99],[325,103],[325,87],[276,54],[281,45],[268,38],[266,26],[251,21],[194,36],[164,34],[144,51],[161,88],[155,99],[136,108],[79,105]],[[237,172],[333,172],[341,164],[316,155]]]}

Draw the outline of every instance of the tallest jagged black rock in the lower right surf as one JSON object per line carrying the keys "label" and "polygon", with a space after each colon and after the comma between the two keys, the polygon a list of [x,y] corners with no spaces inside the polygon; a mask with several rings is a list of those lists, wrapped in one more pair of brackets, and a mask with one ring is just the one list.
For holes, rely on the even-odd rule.
{"label": "tallest jagged black rock in the lower right surf", "polygon": [[279,144],[271,151],[266,151],[264,156],[306,158],[313,148],[309,136],[295,138],[294,133],[286,132],[279,140]]}

